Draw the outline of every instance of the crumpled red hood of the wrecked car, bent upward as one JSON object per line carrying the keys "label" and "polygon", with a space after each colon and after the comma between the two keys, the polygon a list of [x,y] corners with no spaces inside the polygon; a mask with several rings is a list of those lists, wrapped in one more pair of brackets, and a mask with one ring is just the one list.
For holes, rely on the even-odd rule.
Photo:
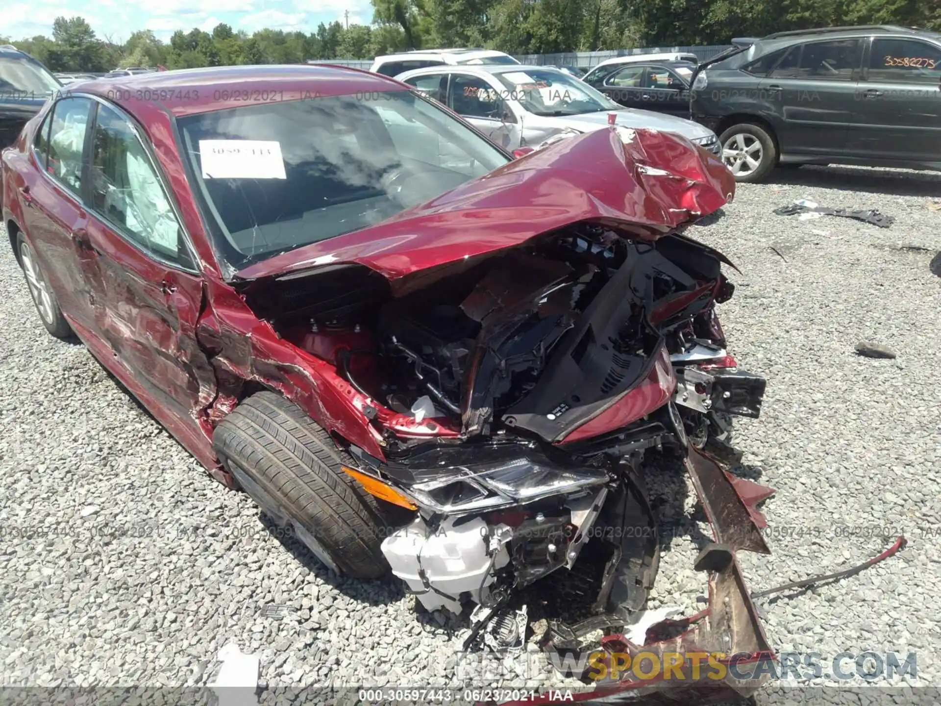
{"label": "crumpled red hood of the wrecked car, bent upward", "polygon": [[725,165],[685,138],[612,127],[532,152],[375,226],[249,265],[235,279],[356,263],[395,280],[578,221],[655,240],[734,193]]}

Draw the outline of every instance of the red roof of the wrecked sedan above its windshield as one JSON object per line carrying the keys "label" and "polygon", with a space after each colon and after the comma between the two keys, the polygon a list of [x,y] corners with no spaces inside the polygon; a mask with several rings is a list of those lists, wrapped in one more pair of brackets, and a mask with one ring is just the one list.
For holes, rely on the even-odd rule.
{"label": "red roof of the wrecked sedan above its windshield", "polygon": [[141,104],[158,104],[175,117],[272,100],[311,100],[360,91],[407,90],[388,76],[343,66],[222,66],[135,73],[70,84],[137,117]]}

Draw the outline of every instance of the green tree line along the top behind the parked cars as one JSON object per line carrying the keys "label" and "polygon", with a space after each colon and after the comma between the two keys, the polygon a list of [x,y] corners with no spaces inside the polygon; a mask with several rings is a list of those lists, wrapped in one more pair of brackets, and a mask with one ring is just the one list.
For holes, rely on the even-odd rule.
{"label": "green tree line along the top behind the parked cars", "polygon": [[373,24],[321,23],[315,31],[218,24],[178,30],[168,42],[139,30],[99,38],[81,17],[57,17],[52,36],[8,40],[57,72],[117,67],[186,69],[372,58],[408,49],[476,46],[508,54],[726,44],[787,29],[902,24],[941,31],[941,3],[924,0],[372,0]]}

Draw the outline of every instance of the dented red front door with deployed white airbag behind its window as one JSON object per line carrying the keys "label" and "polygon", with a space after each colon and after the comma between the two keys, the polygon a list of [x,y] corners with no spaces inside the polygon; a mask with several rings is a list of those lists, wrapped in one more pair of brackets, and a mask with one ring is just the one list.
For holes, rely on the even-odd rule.
{"label": "dented red front door with deployed white airbag behind its window", "polygon": [[160,405],[158,417],[193,425],[215,396],[196,340],[202,279],[151,152],[110,104],[97,104],[87,174],[98,352]]}

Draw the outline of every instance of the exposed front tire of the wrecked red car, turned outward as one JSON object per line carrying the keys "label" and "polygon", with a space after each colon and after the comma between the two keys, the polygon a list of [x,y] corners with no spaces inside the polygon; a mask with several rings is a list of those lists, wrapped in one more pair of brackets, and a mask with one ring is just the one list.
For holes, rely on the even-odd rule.
{"label": "exposed front tire of the wrecked red car, turned outward", "polygon": [[384,508],[340,468],[352,464],[303,409],[255,393],[215,427],[226,469],[265,515],[291,528],[336,573],[375,579],[389,570],[380,549]]}

